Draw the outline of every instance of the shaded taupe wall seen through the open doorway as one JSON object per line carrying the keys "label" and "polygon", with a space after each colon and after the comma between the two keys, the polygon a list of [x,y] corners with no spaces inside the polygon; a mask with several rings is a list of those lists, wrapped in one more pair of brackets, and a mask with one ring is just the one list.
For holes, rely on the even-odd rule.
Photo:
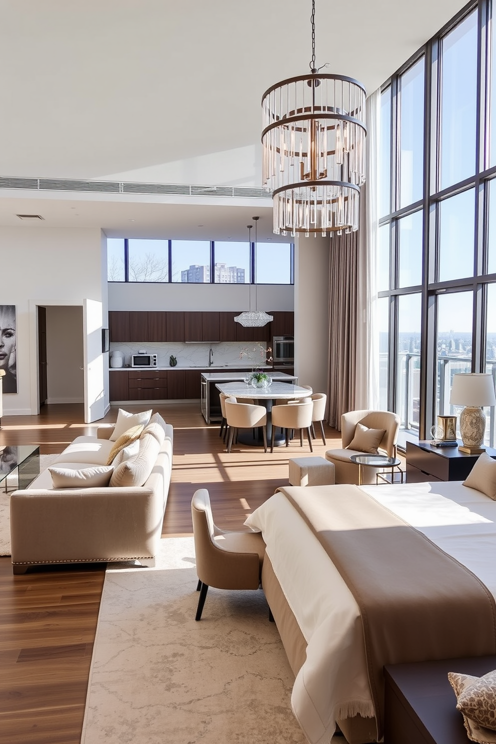
{"label": "shaded taupe wall seen through the open doorway", "polygon": [[83,307],[47,307],[48,403],[83,403]]}

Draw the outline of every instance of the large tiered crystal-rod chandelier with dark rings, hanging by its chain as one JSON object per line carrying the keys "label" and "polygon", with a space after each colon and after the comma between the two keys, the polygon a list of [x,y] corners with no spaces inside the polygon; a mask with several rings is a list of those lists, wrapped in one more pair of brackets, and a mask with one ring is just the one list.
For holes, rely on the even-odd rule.
{"label": "large tiered crystal-rod chandelier with dark rings, hanging by its chain", "polygon": [[272,191],[274,233],[341,235],[358,230],[366,92],[315,67],[315,0],[310,69],[263,94],[263,185]]}

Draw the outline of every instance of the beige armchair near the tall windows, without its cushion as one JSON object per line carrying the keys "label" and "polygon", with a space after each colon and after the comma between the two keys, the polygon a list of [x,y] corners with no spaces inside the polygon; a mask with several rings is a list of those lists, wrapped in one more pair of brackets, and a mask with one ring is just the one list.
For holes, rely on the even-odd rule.
{"label": "beige armchair near the tall windows, without its cushion", "polygon": [[[378,452],[390,458],[396,457],[396,442],[401,423],[397,414],[391,411],[349,411],[341,416],[341,449],[328,449],[326,452],[326,460],[334,464],[336,483],[358,485],[358,465],[352,463],[350,457],[364,454],[364,450],[348,449],[355,437],[358,423],[367,429],[384,430]],[[373,484],[376,482],[376,470],[364,467],[362,477],[364,484]]]}

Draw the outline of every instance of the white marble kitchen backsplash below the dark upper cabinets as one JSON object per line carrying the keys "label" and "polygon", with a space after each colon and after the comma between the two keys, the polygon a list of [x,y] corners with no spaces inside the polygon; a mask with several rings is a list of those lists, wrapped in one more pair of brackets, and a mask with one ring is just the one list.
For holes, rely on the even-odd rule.
{"label": "white marble kitchen backsplash below the dark upper cabinets", "polygon": [[[247,341],[245,343],[237,341],[221,341],[217,344],[189,343],[182,342],[157,342],[145,344],[110,344],[110,367],[112,368],[112,353],[120,351],[124,355],[124,366],[131,364],[132,354],[137,354],[141,350],[146,353],[157,355],[157,366],[169,368],[170,356],[175,356],[178,360],[176,369],[189,369],[195,367],[208,368],[210,359],[210,349],[212,350],[212,366],[216,367],[263,367],[267,364],[267,357],[271,357],[271,352],[265,353],[267,344],[263,341]],[[271,365],[270,365],[271,366]]]}

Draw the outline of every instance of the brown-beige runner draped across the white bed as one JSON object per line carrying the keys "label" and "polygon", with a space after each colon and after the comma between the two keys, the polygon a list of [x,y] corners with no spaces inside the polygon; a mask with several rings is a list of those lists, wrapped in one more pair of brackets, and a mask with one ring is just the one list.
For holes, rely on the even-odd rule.
{"label": "brown-beige runner draped across the white bed", "polygon": [[277,489],[314,531],[355,597],[383,735],[384,664],[496,653],[496,605],[483,583],[360,488]]}

